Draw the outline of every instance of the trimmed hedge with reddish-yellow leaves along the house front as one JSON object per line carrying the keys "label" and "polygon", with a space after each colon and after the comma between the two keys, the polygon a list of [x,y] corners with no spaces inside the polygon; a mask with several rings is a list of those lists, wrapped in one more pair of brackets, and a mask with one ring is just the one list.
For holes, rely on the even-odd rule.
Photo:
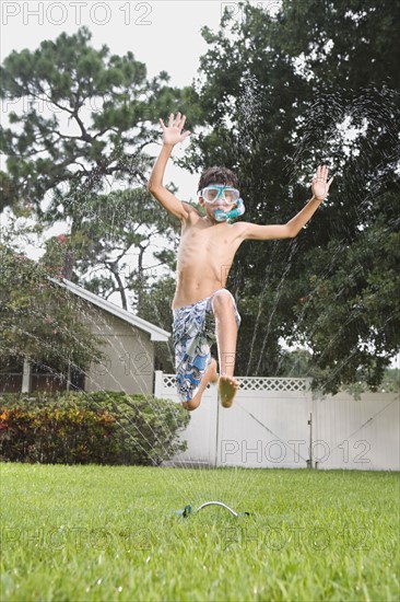
{"label": "trimmed hedge with reddish-yellow leaves along the house front", "polygon": [[166,400],[102,391],[0,402],[2,460],[158,465],[186,449],[177,435],[190,417]]}

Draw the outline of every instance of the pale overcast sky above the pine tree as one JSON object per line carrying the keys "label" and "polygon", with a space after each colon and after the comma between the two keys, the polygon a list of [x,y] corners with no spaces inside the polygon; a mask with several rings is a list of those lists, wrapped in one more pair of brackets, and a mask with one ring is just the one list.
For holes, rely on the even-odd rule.
{"label": "pale overcast sky above the pine tree", "polygon": [[[85,25],[95,48],[106,44],[118,55],[131,50],[145,63],[149,78],[164,70],[176,86],[190,85],[197,76],[199,58],[208,48],[201,27],[217,30],[225,7],[240,19],[237,2],[215,0],[3,1],[0,7],[2,59],[12,50],[34,50],[44,39],[55,39],[61,32],[73,34]],[[190,139],[174,155],[181,155],[189,143]],[[165,178],[174,181],[181,198],[195,196],[197,175],[169,162]]]}

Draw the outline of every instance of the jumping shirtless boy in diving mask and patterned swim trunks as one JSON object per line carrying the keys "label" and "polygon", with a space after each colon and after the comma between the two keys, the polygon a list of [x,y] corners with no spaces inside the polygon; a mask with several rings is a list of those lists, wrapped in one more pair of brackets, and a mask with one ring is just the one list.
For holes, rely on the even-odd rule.
{"label": "jumping shirtless boy in diving mask and patterned swim trunks", "polygon": [[[199,202],[205,209],[205,216],[201,217],[195,207],[180,201],[163,186],[173,148],[190,135],[190,131],[181,132],[185,121],[186,116],[180,113],[176,118],[170,114],[168,126],[160,119],[163,148],[148,183],[150,193],[181,223],[177,285],[172,304],[178,395],[183,406],[193,410],[201,403],[208,383],[217,381],[220,402],[231,407],[239,386],[234,368],[240,316],[225,283],[236,251],[246,240],[296,236],[327,196],[333,177],[327,182],[327,166],[318,166],[313,180],[313,198],[287,223],[228,223],[224,218],[242,204],[238,183],[230,170],[211,167],[202,173],[199,182]],[[210,355],[210,344],[215,338],[214,321],[220,377],[216,361]]]}

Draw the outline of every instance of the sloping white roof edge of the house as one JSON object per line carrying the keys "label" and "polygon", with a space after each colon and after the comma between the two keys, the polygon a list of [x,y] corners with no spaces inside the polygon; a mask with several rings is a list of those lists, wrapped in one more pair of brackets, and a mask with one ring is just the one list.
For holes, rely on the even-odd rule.
{"label": "sloping white roof edge of the house", "polygon": [[163,331],[163,328],[158,328],[158,326],[155,326],[151,322],[148,322],[146,320],[143,320],[128,312],[127,310],[123,310],[122,308],[119,308],[118,305],[116,305],[115,303],[111,303],[110,301],[106,301],[106,299],[102,299],[102,297],[98,297],[98,294],[95,294],[90,290],[79,287],[74,282],[71,282],[71,280],[67,280],[66,278],[62,278],[60,280],[50,278],[50,280],[52,282],[56,282],[60,287],[67,288],[78,297],[81,297],[82,299],[90,301],[94,305],[97,305],[97,308],[101,308],[102,310],[119,317],[120,320],[123,320],[123,322],[127,322],[128,324],[131,324],[132,326],[136,326],[137,328],[140,328],[145,333],[149,333],[151,340],[165,341],[165,340],[168,340],[170,336],[170,333]]}

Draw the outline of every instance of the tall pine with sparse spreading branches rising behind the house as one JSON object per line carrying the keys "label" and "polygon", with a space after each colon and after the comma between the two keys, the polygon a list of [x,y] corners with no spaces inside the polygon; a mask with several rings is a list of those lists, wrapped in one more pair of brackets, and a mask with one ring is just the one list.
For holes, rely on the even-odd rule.
{"label": "tall pine with sparse spreading branches rising behind the house", "polygon": [[[2,97],[16,104],[0,136],[8,155],[0,174],[2,207],[27,207],[46,225],[67,221],[64,276],[85,285],[90,265],[103,267],[92,290],[106,297],[117,290],[127,306],[126,289],[133,282],[139,290],[143,280],[140,261],[150,236],[174,235],[161,211],[149,210],[145,174],[152,158],[145,149],[158,138],[153,124],[177,103],[196,120],[196,95],[191,88],[168,86],[165,71],[148,81],[132,53],[110,55],[90,40],[82,27],[4,59]],[[139,250],[138,269],[123,286],[119,274],[132,246]]]}

